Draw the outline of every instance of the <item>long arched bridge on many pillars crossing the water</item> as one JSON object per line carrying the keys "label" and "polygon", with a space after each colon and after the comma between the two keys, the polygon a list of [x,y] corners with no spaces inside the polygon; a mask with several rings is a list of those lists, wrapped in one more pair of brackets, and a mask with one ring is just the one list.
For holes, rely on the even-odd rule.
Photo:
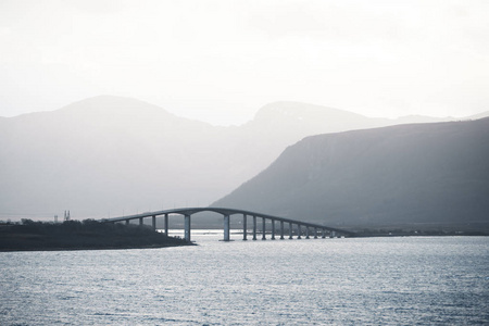
{"label": "long arched bridge on many pillars crossing the water", "polygon": [[[267,214],[261,214],[250,211],[243,211],[243,210],[235,210],[235,209],[223,209],[223,208],[184,208],[184,209],[173,209],[173,210],[164,210],[164,211],[156,211],[156,212],[146,212],[141,214],[135,214],[135,215],[126,215],[121,217],[112,217],[112,218],[103,218],[101,222],[104,223],[117,223],[117,222],[125,222],[126,224],[129,224],[130,220],[139,220],[139,225],[143,225],[143,218],[145,217],[151,217],[152,218],[152,227],[155,230],[156,229],[156,216],[164,215],[164,233],[168,235],[168,216],[170,215],[183,215],[185,221],[185,240],[190,241],[190,231],[191,231],[191,215],[200,212],[214,212],[222,214],[224,216],[224,241],[229,241],[229,218],[231,215],[241,214],[242,215],[242,239],[248,239],[248,216],[252,217],[252,239],[256,240],[256,218],[262,220],[262,239],[266,239],[266,221],[269,221],[272,224],[271,229],[271,239],[275,240],[275,236],[277,235],[275,229],[275,223],[279,223],[279,233],[280,239],[285,238],[285,224],[288,224],[288,236],[289,239],[293,238],[293,226],[296,226],[296,237],[298,239],[301,239],[302,235],[305,233],[305,238],[309,239],[311,236],[314,238],[317,238],[317,230],[321,230],[322,238],[326,238],[326,233],[329,234],[329,237],[336,237],[336,236],[355,236],[355,233],[348,231],[344,229],[328,227],[319,224],[314,223],[308,223],[308,222],[301,222],[297,220],[290,220],[290,218],[284,218]],[[304,228],[304,233],[302,231],[302,228]]]}

